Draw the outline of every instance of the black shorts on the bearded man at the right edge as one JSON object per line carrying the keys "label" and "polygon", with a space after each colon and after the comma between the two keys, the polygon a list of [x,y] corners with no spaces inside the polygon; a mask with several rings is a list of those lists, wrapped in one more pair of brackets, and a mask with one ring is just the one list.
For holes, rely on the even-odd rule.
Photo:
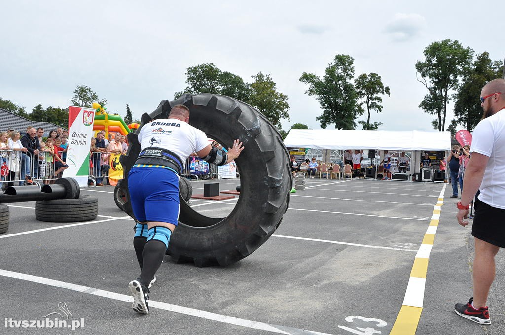
{"label": "black shorts on the bearded man at the right edge", "polygon": [[477,201],[472,235],[500,248],[505,248],[505,209]]}

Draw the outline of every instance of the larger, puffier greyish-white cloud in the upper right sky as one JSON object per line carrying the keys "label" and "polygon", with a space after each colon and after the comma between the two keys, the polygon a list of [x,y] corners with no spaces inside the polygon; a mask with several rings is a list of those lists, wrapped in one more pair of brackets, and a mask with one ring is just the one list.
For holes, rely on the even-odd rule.
{"label": "larger, puffier greyish-white cloud in the upper right sky", "polygon": [[419,35],[426,26],[424,16],[419,14],[396,13],[386,24],[385,32],[394,41],[406,41]]}

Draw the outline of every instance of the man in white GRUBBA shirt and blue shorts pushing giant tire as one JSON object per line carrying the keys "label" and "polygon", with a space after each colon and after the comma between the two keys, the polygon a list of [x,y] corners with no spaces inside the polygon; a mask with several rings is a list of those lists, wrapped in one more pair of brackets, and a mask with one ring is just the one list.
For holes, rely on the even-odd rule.
{"label": "man in white GRUBBA shirt and blue shorts pushing giant tire", "polygon": [[212,147],[205,133],[189,125],[189,109],[175,105],[168,119],[144,125],[138,134],[140,153],[128,174],[128,190],[136,219],[133,247],[140,276],[128,284],[132,308],[147,314],[149,289],[154,282],[179,216],[179,175],[193,152],[216,165],[237,158],[244,149],[238,139],[228,152]]}

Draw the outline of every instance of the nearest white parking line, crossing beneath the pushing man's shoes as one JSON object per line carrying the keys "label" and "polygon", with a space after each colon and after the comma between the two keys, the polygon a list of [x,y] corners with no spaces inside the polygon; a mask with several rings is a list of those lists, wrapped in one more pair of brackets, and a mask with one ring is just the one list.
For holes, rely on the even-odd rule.
{"label": "nearest white parking line, crossing beneath the pushing man's shoes", "polygon": [[[38,283],[38,284],[43,284],[43,285],[47,285],[47,286],[53,286],[53,287],[77,291],[77,292],[81,292],[81,293],[85,293],[85,294],[91,294],[91,295],[98,296],[98,297],[104,297],[104,298],[108,298],[108,299],[124,301],[124,302],[130,303],[130,304],[133,302],[133,298],[131,296],[127,296],[125,294],[95,289],[95,288],[83,286],[83,285],[77,285],[77,284],[72,284],[72,283],[67,283],[67,282],[56,281],[56,280],[53,280],[50,278],[38,277],[38,276],[30,275],[30,274],[12,272],[12,271],[2,270],[2,269],[0,269],[0,275],[2,275],[4,277],[15,278],[15,279],[27,281],[27,282]],[[203,310],[167,304],[164,302],[154,301],[154,300],[149,300],[149,307],[158,308],[158,309],[166,310],[169,312],[199,317],[199,318],[203,318],[203,319],[213,320],[213,321],[217,321],[217,322],[234,324],[234,325],[241,326],[241,327],[266,330],[266,331],[271,331],[271,332],[276,332],[276,333],[281,333],[281,334],[332,335],[329,333],[324,333],[324,332],[319,332],[319,331],[312,331],[312,330],[306,330],[306,329],[286,327],[286,326],[281,326],[281,325],[276,325],[276,324],[271,324],[271,323],[241,319],[238,317],[206,312]],[[125,306],[125,308],[126,308],[126,306]]]}

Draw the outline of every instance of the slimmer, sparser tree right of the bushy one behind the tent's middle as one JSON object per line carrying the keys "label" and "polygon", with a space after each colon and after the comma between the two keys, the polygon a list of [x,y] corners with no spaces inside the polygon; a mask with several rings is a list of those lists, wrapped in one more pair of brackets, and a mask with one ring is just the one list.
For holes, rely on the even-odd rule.
{"label": "slimmer, sparser tree right of the bushy one behind the tent's middle", "polygon": [[363,107],[363,105],[365,105],[368,112],[367,121],[359,121],[358,123],[363,125],[364,130],[377,130],[377,128],[382,125],[382,122],[370,124],[370,111],[376,110],[377,113],[382,111],[381,95],[390,95],[389,86],[384,87],[382,78],[376,73],[371,73],[369,75],[364,73],[360,75],[354,83],[358,98],[363,99],[363,101],[360,102],[360,106]]}

